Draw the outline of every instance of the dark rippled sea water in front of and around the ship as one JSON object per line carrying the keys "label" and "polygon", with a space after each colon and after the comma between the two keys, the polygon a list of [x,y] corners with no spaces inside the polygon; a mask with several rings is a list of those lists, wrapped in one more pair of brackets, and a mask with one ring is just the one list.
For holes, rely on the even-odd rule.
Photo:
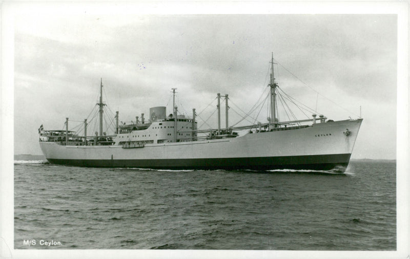
{"label": "dark rippled sea water in front of and around the ship", "polygon": [[345,174],[14,168],[15,249],[396,250],[394,161]]}

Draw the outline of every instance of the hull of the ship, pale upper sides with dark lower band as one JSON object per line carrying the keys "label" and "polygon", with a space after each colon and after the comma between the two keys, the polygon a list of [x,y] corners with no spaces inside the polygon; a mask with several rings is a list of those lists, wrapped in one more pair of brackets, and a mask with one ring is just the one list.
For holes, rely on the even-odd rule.
{"label": "hull of the ship, pale upper sides with dark lower band", "polygon": [[353,152],[361,121],[317,123],[296,130],[247,134],[232,139],[151,144],[140,148],[64,146],[56,142],[40,142],[40,147],[50,163],[75,166],[343,172]]}

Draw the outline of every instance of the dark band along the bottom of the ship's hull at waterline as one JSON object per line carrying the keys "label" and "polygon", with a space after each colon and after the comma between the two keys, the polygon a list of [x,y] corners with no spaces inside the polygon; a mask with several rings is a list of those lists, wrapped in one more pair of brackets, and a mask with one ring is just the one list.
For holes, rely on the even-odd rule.
{"label": "dark band along the bottom of the ship's hull at waterline", "polygon": [[86,167],[137,167],[152,169],[306,169],[337,170],[344,172],[351,154],[288,156],[288,157],[247,157],[247,158],[197,158],[197,159],[50,159],[53,164]]}

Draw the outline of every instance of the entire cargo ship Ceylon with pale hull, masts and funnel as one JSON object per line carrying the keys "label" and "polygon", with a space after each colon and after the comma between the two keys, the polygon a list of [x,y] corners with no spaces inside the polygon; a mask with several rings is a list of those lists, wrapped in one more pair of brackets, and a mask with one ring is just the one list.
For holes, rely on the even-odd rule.
{"label": "entire cargo ship Ceylon with pale hull, masts and funnel", "polygon": [[[274,77],[274,59],[270,61],[268,110],[265,123],[245,126],[220,123],[221,95],[217,94],[217,128],[198,128],[195,109],[192,116],[181,115],[175,105],[167,115],[166,106],[151,107],[149,118],[136,117],[131,123],[119,123],[118,111],[112,124],[113,134],[103,131],[103,82],[96,103],[99,131],[87,134],[84,120],[81,131],[38,129],[39,145],[53,164],[85,167],[135,167],[152,169],[251,169],[251,170],[331,170],[344,172],[353,152],[362,118],[340,121],[312,114],[304,120],[277,119],[279,85]],[[97,120],[97,118],[96,118]],[[115,125],[114,125],[115,124]]]}

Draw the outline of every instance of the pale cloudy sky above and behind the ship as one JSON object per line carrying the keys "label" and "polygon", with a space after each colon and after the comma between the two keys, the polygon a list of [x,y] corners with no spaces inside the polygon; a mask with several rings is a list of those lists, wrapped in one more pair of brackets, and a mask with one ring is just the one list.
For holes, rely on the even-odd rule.
{"label": "pale cloudy sky above and behind the ship", "polygon": [[[396,15],[104,10],[16,11],[14,154],[41,154],[40,124],[61,130],[66,117],[70,128],[87,118],[100,78],[121,121],[141,113],[148,118],[153,106],[168,104],[170,113],[171,88],[177,88],[182,113],[199,113],[211,103],[202,120],[215,109],[216,93],[229,94],[234,124],[240,120],[236,112],[248,112],[267,89],[273,52],[281,89],[317,106],[318,114],[358,118],[361,106],[364,120],[352,158],[396,158]],[[262,109],[258,121],[265,122],[266,113]],[[208,124],[216,125],[214,117]]]}

